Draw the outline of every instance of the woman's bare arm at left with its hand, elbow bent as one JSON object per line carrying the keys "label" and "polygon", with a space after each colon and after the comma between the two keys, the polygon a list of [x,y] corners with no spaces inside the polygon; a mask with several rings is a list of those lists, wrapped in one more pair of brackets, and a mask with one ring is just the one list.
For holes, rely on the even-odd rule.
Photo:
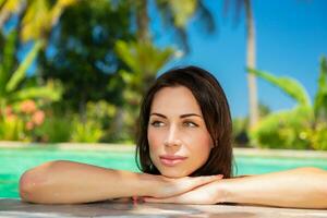
{"label": "woman's bare arm at left with its hand, elbow bent", "polygon": [[172,196],[217,177],[167,179],[73,161],[51,161],[26,171],[20,181],[23,201],[76,204],[130,196]]}

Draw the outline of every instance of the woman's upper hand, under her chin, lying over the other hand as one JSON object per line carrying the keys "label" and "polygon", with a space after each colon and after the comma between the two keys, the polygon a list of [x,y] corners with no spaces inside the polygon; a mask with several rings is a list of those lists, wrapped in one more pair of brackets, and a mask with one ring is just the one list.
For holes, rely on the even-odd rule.
{"label": "woman's upper hand, under her chin, lying over the other hand", "polygon": [[[157,185],[150,194],[150,197],[155,198],[166,198],[166,199],[174,199],[173,196],[179,195],[183,197],[184,193],[191,193],[194,189],[201,189],[202,186],[207,186],[208,184],[220,180],[223,175],[207,175],[207,177],[185,177],[179,179],[166,178],[164,175],[159,177],[159,185]],[[187,196],[187,195],[186,195]],[[178,196],[177,196],[178,197]]]}

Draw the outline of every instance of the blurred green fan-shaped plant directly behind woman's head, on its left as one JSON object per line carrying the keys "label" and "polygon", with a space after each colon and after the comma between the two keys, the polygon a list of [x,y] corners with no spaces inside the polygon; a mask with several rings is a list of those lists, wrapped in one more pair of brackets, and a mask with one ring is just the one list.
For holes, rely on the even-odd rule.
{"label": "blurred green fan-shaped plant directly behind woman's head, on its left", "polygon": [[[149,41],[117,41],[118,56],[130,68],[130,71],[121,70],[119,74],[125,83],[123,98],[124,108],[119,111],[117,120],[120,129],[126,135],[135,136],[136,122],[140,111],[141,99],[146,89],[156,78],[157,72],[172,58],[173,49],[159,49]],[[122,124],[122,123],[123,124]]]}

